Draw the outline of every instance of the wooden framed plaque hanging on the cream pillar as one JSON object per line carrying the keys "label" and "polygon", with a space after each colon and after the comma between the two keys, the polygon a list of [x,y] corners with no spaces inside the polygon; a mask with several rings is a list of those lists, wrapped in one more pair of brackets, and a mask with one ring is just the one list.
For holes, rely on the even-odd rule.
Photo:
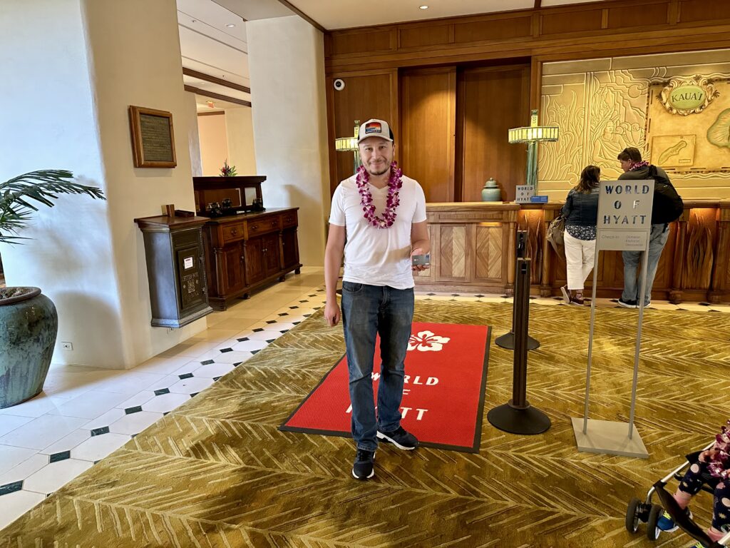
{"label": "wooden framed plaque hanging on the cream pillar", "polygon": [[172,113],[145,107],[129,107],[134,167],[175,167]]}

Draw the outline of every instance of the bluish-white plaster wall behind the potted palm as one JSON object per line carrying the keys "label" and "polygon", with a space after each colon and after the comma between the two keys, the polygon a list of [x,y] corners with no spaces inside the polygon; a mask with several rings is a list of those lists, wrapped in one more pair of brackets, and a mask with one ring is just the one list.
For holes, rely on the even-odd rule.
{"label": "bluish-white plaster wall behind the potted palm", "polygon": [[[0,2],[0,180],[66,169],[108,193],[95,121],[80,0]],[[128,139],[128,138],[127,138]],[[0,246],[8,285],[39,286],[58,310],[54,362],[128,362],[109,210],[113,202],[62,196],[39,206],[22,246]]]}

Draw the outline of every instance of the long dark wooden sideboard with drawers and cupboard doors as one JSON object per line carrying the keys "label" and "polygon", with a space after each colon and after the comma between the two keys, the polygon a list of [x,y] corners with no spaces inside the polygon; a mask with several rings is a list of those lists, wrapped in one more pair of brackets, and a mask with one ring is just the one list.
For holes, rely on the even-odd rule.
{"label": "long dark wooden sideboard with drawers and cupboard doors", "polygon": [[296,231],[299,208],[210,218],[203,227],[208,274],[208,301],[226,310],[258,287],[299,274]]}

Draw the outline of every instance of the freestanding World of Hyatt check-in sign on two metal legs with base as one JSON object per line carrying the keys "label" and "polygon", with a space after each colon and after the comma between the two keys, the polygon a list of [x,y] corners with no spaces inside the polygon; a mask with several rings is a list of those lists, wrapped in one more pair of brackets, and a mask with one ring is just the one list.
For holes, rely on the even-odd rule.
{"label": "freestanding World of Hyatt check-in sign on two metal legs with base", "polygon": [[[602,181],[596,224],[596,254],[593,272],[598,265],[599,251],[644,251],[648,256],[651,232],[651,209],[654,199],[654,180],[607,180]],[[623,422],[588,419],[591,392],[591,359],[593,357],[593,324],[596,317],[596,286],[598,276],[593,276],[593,300],[591,301],[591,327],[588,335],[588,368],[585,376],[585,411],[583,418],[572,418],[573,432],[579,451],[620,454],[626,457],[648,458],[644,442],[634,426],[637,380],[639,376],[639,350],[644,317],[647,261],[642,260],[639,302],[639,327],[634,353],[634,383],[631,388],[631,412],[628,432]]]}

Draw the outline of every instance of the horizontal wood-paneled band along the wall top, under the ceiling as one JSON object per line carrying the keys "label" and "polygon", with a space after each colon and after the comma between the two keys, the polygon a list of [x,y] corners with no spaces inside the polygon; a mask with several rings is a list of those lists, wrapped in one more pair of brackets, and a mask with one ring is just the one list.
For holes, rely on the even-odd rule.
{"label": "horizontal wood-paneled band along the wall top, under the ceiling", "polygon": [[730,45],[726,0],[615,0],[328,32],[328,73],[529,56],[590,58]]}

